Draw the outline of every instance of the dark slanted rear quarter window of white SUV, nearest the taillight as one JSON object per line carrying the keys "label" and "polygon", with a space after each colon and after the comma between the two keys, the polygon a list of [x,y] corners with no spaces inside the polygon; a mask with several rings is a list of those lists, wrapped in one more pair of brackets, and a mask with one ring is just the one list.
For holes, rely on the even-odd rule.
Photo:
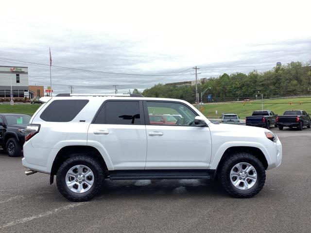
{"label": "dark slanted rear quarter window of white SUV, nearest the taillight", "polygon": [[88,100],[54,100],[40,118],[51,122],[69,122],[80,113]]}

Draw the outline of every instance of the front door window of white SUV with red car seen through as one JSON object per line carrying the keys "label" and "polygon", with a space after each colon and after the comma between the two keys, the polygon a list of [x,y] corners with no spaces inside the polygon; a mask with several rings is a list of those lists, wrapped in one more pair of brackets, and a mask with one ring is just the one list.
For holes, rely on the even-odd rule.
{"label": "front door window of white SUV with red car seen through", "polygon": [[[155,102],[147,101],[147,108],[149,114],[149,121],[151,125],[157,125],[158,121],[155,119],[154,115],[157,117],[169,117],[166,118],[168,122],[163,122],[162,124],[167,125],[178,125],[178,126],[194,126],[194,117],[196,114],[186,105],[176,102]],[[178,120],[174,116],[176,115]],[[174,119],[172,118],[174,117]],[[163,120],[163,118],[162,118]]]}

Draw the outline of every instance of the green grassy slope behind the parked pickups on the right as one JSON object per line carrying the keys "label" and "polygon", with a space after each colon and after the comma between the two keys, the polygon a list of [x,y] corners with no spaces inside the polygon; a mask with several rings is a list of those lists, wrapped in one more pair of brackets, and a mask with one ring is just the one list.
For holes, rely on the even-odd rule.
{"label": "green grassy slope behind the parked pickups on the right", "polygon": [[[299,102],[301,101],[301,105]],[[292,103],[290,102],[298,102]],[[309,103],[307,103],[309,102]],[[238,103],[215,103],[215,104],[203,104],[203,114],[207,117],[221,117],[222,113],[235,113],[240,118],[251,116],[253,111],[261,110],[261,101],[249,101],[245,102],[243,106],[242,102]],[[291,98],[291,99],[276,99],[276,100],[264,100],[264,110],[271,110],[278,115],[283,115],[285,110],[305,110],[307,113],[311,113],[311,97],[309,98]],[[218,114],[216,115],[216,110]]]}

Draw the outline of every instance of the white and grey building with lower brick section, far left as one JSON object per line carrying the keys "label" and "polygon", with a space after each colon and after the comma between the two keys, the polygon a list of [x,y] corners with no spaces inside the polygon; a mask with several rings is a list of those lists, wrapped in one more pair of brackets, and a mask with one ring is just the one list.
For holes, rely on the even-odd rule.
{"label": "white and grey building with lower brick section, far left", "polygon": [[0,99],[11,99],[11,85],[16,100],[44,96],[43,86],[29,85],[28,67],[0,66]]}

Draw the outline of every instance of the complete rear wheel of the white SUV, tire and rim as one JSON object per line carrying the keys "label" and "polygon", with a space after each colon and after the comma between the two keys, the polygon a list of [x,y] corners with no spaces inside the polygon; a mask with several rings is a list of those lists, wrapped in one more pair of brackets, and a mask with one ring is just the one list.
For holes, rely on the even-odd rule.
{"label": "complete rear wheel of the white SUV, tire and rim", "polygon": [[104,168],[85,154],[71,155],[56,174],[58,190],[72,201],[91,200],[101,191],[103,182]]}

